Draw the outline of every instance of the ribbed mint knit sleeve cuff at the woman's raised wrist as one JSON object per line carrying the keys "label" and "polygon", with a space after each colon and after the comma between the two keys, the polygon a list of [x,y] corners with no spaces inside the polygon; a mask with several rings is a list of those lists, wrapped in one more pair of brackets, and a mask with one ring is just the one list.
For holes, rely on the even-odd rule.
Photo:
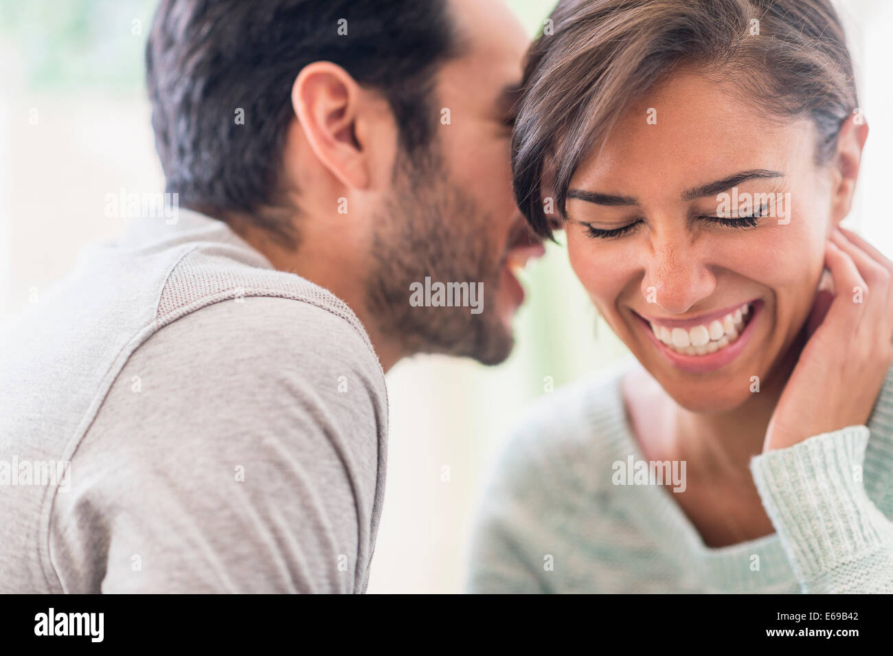
{"label": "ribbed mint knit sleeve cuff at the woman's raised wrist", "polygon": [[849,426],[750,461],[757,492],[801,581],[889,544],[862,481],[870,432]]}

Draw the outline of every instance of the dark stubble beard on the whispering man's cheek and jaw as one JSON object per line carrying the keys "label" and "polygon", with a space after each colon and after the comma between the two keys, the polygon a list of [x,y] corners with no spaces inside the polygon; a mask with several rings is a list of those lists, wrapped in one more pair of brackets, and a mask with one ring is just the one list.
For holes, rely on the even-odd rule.
{"label": "dark stubble beard on the whispering man's cheek and jaw", "polygon": [[[489,217],[471,195],[448,177],[436,151],[401,157],[393,193],[372,231],[371,275],[366,296],[382,336],[405,355],[442,353],[498,364],[508,357],[513,336],[497,313],[503,262],[490,262]],[[482,311],[470,307],[413,307],[410,286],[448,282],[483,283]],[[479,303],[481,299],[479,299]]]}

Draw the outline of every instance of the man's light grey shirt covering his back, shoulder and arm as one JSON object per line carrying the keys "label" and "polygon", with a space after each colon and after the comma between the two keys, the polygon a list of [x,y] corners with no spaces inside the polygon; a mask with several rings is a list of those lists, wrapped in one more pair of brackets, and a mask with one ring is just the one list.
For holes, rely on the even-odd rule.
{"label": "man's light grey shirt covering his back, shoulder and arm", "polygon": [[387,398],[346,304],[180,211],[5,327],[3,592],[363,592]]}

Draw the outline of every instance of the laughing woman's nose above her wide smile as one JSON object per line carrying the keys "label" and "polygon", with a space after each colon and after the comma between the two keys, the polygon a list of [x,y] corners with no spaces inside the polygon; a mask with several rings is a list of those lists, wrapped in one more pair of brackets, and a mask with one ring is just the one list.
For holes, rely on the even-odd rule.
{"label": "laughing woman's nose above her wide smile", "polygon": [[668,314],[683,314],[713,294],[716,278],[688,234],[657,236],[642,278],[642,294]]}

